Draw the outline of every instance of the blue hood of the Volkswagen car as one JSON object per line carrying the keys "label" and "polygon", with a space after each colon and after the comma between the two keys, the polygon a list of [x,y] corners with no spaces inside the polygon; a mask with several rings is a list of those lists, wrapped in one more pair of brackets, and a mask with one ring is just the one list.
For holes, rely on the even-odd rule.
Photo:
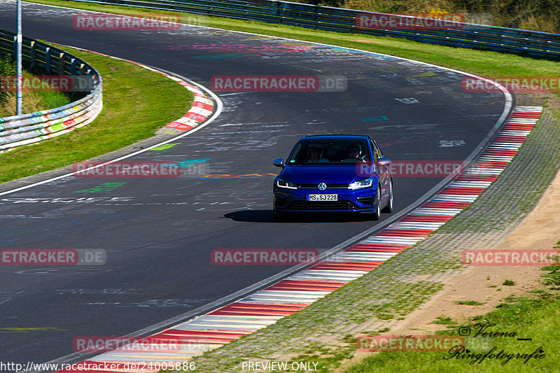
{"label": "blue hood of the Volkswagen car", "polygon": [[293,164],[286,165],[280,178],[296,184],[312,183],[352,183],[364,176],[356,175],[356,164]]}

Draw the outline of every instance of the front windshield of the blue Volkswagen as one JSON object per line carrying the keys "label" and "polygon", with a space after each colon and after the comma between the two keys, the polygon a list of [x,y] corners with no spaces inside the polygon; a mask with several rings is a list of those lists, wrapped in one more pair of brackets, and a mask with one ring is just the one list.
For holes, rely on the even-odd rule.
{"label": "front windshield of the blue Volkswagen", "polygon": [[287,164],[342,164],[367,161],[370,161],[370,150],[365,140],[305,139],[297,144]]}

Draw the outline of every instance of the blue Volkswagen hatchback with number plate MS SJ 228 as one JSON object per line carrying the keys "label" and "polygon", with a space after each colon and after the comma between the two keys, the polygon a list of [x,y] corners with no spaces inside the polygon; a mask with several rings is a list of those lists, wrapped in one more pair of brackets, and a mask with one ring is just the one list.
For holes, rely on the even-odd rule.
{"label": "blue Volkswagen hatchback with number plate MS SJ 228", "polygon": [[309,211],[365,213],[373,220],[393,211],[393,176],[370,136],[304,136],[288,159],[274,160],[274,218]]}

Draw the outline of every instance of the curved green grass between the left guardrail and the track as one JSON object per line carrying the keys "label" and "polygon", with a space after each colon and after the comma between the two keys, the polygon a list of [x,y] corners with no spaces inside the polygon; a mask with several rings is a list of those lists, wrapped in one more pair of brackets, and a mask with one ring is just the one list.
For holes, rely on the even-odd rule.
{"label": "curved green grass between the left guardrail and the track", "polygon": [[[190,91],[160,73],[91,52],[61,49],[84,59],[101,73],[103,111],[94,122],[69,134],[0,154],[1,183],[148,139],[160,127],[180,118],[192,104]],[[55,102],[52,105],[57,106]]]}

